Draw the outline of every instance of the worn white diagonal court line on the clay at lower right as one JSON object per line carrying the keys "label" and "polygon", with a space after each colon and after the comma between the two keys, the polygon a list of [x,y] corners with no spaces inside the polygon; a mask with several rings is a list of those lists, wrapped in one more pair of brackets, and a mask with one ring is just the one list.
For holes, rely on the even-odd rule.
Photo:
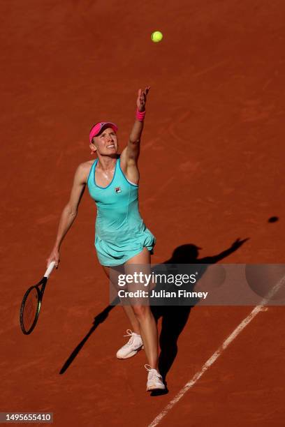
{"label": "worn white diagonal court line on the clay at lower right", "polygon": [[282,277],[274,287],[272,287],[272,290],[270,290],[270,292],[268,292],[266,297],[263,298],[263,300],[261,301],[261,304],[256,306],[251,311],[251,313],[249,313],[249,315],[247,317],[245,317],[245,319],[242,320],[242,322],[240,322],[238,327],[236,327],[235,330],[231,333],[231,335],[228,336],[228,338],[226,338],[226,340],[224,340],[224,343],[222,343],[222,345],[220,345],[218,350],[216,352],[214,352],[214,354],[212,354],[210,359],[207,359],[205,364],[202,366],[201,370],[199,370],[199,372],[197,372],[193,376],[193,378],[189,382],[187,382],[187,384],[184,385],[184,387],[177,393],[177,395],[173,398],[173,400],[171,400],[170,403],[168,403],[168,405],[166,405],[166,407],[161,411],[161,413],[159,415],[157,415],[156,418],[154,418],[154,420],[152,421],[151,424],[149,424],[148,427],[154,427],[154,426],[157,426],[157,424],[159,424],[161,419],[163,419],[163,417],[165,417],[166,414],[168,414],[168,412],[173,408],[173,406],[177,402],[179,402],[179,400],[184,396],[184,394],[189,389],[191,389],[191,387],[193,387],[194,384],[196,384],[196,382],[200,379],[200,377],[202,377],[203,373],[205,373],[206,370],[208,370],[210,368],[210,366],[212,366],[212,364],[214,364],[214,362],[218,359],[218,357],[221,356],[221,353],[224,352],[224,350],[226,350],[226,347],[228,347],[228,345],[231,344],[231,342],[240,334],[240,332],[247,326],[247,324],[249,324],[249,322],[251,322],[251,320],[254,319],[254,317],[256,317],[256,315],[260,311],[266,310],[266,308],[264,307],[265,304],[268,303],[268,301],[273,297],[273,295],[276,294],[276,292],[280,289],[280,287],[282,287],[282,285],[284,285],[284,283],[285,283],[285,276]]}

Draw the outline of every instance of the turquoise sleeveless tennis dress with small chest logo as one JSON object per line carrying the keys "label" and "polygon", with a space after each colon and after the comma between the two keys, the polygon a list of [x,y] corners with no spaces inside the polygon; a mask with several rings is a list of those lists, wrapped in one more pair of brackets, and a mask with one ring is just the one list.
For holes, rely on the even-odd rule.
{"label": "turquoise sleeveless tennis dress with small chest logo", "polygon": [[98,159],[87,179],[89,193],[97,206],[95,248],[100,264],[115,267],[124,264],[143,248],[150,253],[155,237],[147,229],[138,210],[138,186],[126,179],[117,158],[112,181],[107,187],[96,184]]}

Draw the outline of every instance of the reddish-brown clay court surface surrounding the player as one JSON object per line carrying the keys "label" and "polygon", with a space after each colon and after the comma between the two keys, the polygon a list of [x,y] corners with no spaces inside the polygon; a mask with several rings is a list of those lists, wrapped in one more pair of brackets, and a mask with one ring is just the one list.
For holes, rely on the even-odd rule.
{"label": "reddish-brown clay court surface surrounding the player", "polygon": [[0,15],[0,412],[53,412],[54,427],[284,426],[282,306],[261,310],[176,403],[254,307],[192,308],[163,396],[145,392],[144,352],[116,359],[129,324],[108,308],[87,190],[38,325],[30,336],[19,326],[75,168],[91,158],[89,129],[117,123],[124,147],[147,84],[140,212],[152,262],[182,244],[214,256],[238,238],[249,240],[222,262],[284,262],[284,1],[2,0]]}

